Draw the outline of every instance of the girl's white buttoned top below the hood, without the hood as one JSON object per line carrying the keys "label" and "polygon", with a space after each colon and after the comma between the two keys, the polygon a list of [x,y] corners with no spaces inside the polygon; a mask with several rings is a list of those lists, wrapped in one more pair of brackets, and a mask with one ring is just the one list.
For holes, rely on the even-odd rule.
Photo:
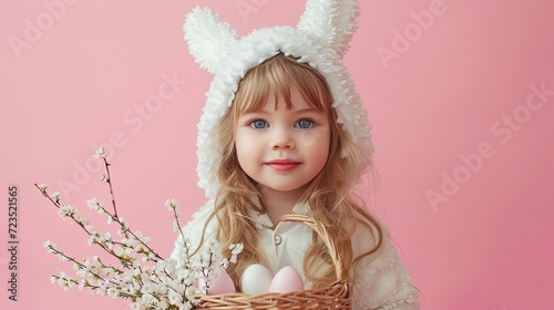
{"label": "girl's white buttoned top below the hood, without the hood", "polygon": [[[307,208],[306,205],[296,205],[293,213],[305,215]],[[193,219],[183,228],[184,235],[191,239],[192,245],[199,244],[202,229],[213,209],[213,202],[208,202],[194,214]],[[275,275],[285,266],[302,270],[304,254],[311,241],[311,228],[299,223],[281,221],[275,229],[271,229],[273,223],[267,215],[253,211],[250,217],[256,220],[259,238],[258,248],[268,258],[266,267],[269,271]],[[214,223],[215,219],[212,220],[212,225],[206,230],[206,240],[214,238],[212,234]],[[375,246],[375,242],[368,239],[368,232],[362,231],[363,229],[357,229],[351,237],[355,257]],[[383,232],[383,244],[379,252],[363,258],[356,266],[356,269],[349,272],[352,280],[352,309],[418,310],[420,309],[418,291],[404,266],[398,259],[397,250],[388,238],[388,231]],[[183,242],[179,237],[175,241],[175,249],[171,258],[181,261],[179,255],[183,251]],[[240,259],[240,255],[238,258]]]}

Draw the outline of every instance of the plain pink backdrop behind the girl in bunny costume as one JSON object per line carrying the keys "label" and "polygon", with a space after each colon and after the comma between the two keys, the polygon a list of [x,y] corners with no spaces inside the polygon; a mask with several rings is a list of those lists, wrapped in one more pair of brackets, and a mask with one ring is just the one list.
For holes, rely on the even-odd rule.
{"label": "plain pink backdrop behind the girl in bunny costume", "polygon": [[[181,202],[183,218],[204,202],[195,126],[211,75],[182,40],[184,16],[198,4],[240,34],[294,24],[304,8],[294,0],[0,4],[1,309],[126,308],[49,282],[71,265],[45,254],[47,239],[78,257],[94,251],[32,183],[71,185],[63,202],[102,227],[105,218],[84,204],[109,203],[94,145],[112,145],[119,211],[161,254],[176,236],[165,199]],[[430,10],[423,29],[417,16]],[[346,62],[375,125],[381,182],[372,210],[400,245],[424,309],[552,309],[554,95],[535,95],[529,107],[526,100],[531,85],[554,90],[553,14],[547,0],[361,3]],[[384,50],[394,58],[381,59]],[[186,84],[140,114],[164,75]],[[7,291],[9,184],[20,187],[18,302]],[[430,203],[431,192],[442,200]]]}

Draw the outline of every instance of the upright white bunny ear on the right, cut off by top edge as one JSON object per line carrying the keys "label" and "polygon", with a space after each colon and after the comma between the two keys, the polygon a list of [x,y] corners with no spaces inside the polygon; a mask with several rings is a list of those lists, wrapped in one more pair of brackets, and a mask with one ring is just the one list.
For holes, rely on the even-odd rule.
{"label": "upright white bunny ear on the right, cut off by top edge", "polygon": [[348,51],[359,14],[356,0],[307,0],[297,28],[329,42],[337,54]]}

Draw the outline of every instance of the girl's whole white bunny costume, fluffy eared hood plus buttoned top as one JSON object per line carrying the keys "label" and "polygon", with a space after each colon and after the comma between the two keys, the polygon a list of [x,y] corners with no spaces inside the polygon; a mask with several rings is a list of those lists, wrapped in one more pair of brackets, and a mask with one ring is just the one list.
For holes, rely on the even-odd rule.
{"label": "girl's whole white bunny costume, fluffy eared hood plus buttoned top", "polygon": [[[198,245],[204,224],[214,209],[213,198],[218,189],[217,169],[222,152],[217,138],[209,133],[220,123],[233,103],[238,83],[245,73],[265,60],[283,53],[293,55],[318,70],[329,84],[337,111],[337,122],[351,136],[360,154],[371,154],[373,146],[367,112],[361,105],[353,81],[342,63],[342,55],[356,29],[359,8],[356,0],[307,0],[306,10],[297,27],[274,27],[254,30],[239,38],[229,24],[218,20],[207,8],[194,9],[184,24],[188,50],[201,68],[213,73],[207,101],[198,124],[198,186],[211,200],[198,210],[184,228],[193,247]],[[347,156],[347,154],[342,154]],[[294,213],[306,214],[309,206],[296,205]],[[302,270],[302,259],[311,241],[311,229],[304,224],[279,223],[275,229],[265,214],[250,214],[257,223],[259,249],[268,258],[271,272],[284,266]],[[207,238],[213,238],[214,223],[208,225]],[[384,227],[384,226],[383,226]],[[366,228],[351,237],[353,257],[370,250],[375,244]],[[179,261],[181,237],[172,258]],[[240,256],[238,256],[239,259]],[[350,270],[353,309],[420,309],[417,290],[397,251],[384,231],[382,248]]]}

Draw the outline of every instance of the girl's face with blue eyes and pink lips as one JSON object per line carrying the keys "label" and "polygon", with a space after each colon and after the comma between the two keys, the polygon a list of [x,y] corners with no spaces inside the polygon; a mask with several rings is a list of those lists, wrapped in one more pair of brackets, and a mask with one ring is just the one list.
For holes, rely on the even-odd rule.
{"label": "girl's face with blue eyes and pink lips", "polygon": [[[235,146],[243,170],[261,193],[301,195],[324,168],[330,128],[324,111],[310,107],[297,87],[290,90],[291,108],[269,94],[261,110],[239,115]],[[298,196],[299,197],[299,196]]]}

